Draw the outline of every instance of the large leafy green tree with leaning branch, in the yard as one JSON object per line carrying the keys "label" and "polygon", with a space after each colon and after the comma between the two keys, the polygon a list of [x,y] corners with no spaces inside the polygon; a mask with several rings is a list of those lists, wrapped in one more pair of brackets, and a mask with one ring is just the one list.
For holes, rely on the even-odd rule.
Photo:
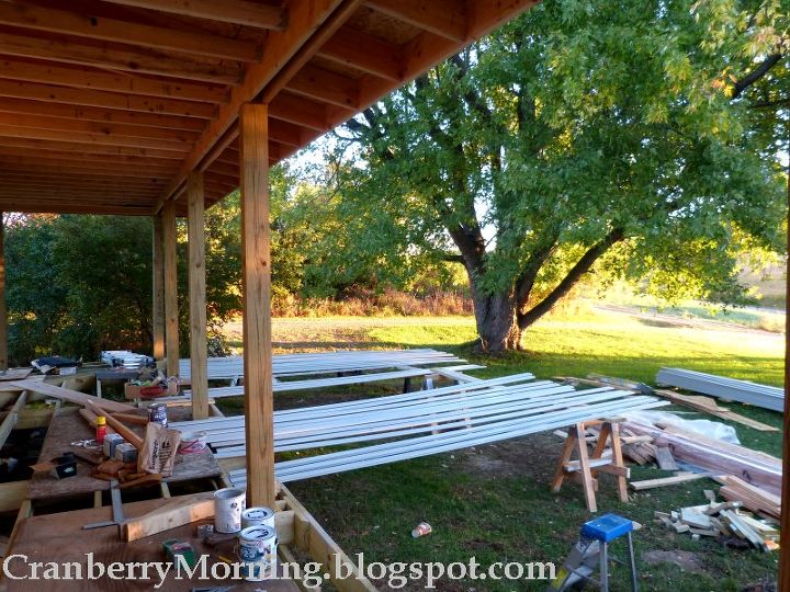
{"label": "large leafy green tree with leaning branch, in the yard", "polygon": [[347,204],[391,221],[358,246],[462,263],[487,351],[591,271],[737,301],[740,253],[781,243],[787,25],[778,0],[546,0],[338,133]]}

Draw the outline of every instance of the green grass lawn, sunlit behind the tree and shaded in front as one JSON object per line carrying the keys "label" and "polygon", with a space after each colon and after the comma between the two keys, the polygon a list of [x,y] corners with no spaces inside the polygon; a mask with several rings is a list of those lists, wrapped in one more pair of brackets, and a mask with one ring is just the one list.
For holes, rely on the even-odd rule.
{"label": "green grass lawn, sunlit behind the tree and shaded in front", "polygon": [[[342,323],[337,319],[336,322]],[[313,333],[320,334],[320,330]],[[478,376],[527,371],[539,377],[585,376],[595,372],[652,384],[658,368],[667,365],[772,385],[780,385],[782,377],[780,335],[651,326],[617,314],[583,311],[576,318],[545,319],[530,329],[526,340],[529,351],[497,358],[472,354],[474,323],[465,318],[430,322],[371,320],[360,323],[357,332],[347,337],[357,346],[362,343],[452,351],[485,364],[487,368],[478,371]],[[278,337],[275,327],[275,339],[281,338],[285,340]],[[320,396],[298,395],[301,401],[314,401]],[[295,402],[286,396],[279,398],[278,406]],[[729,407],[777,426],[781,422],[778,413],[736,403]],[[780,436],[776,433],[733,425],[745,445],[780,454]],[[484,565],[495,561],[558,565],[576,540],[580,524],[589,520],[578,486],[569,483],[558,494],[549,491],[560,447],[556,436],[535,434],[476,449],[300,481],[290,487],[349,555],[363,551],[369,562],[452,562],[475,556]],[[668,474],[651,467],[632,471],[633,479],[665,475]],[[618,512],[644,525],[635,535],[642,590],[736,591],[775,577],[776,553],[733,550],[712,539],[693,542],[688,535],[669,533],[654,524],[656,510],[668,512],[704,503],[704,489],[715,490],[718,486],[700,480],[645,491],[621,503],[613,483],[602,476],[599,510]],[[420,521],[429,522],[433,533],[413,539],[409,533]],[[698,565],[698,572],[645,560],[650,551],[678,550],[690,554],[688,557]],[[612,590],[629,589],[627,571],[613,568]],[[406,589],[421,590],[422,584],[411,583]],[[545,582],[441,581],[437,589],[544,590]]]}

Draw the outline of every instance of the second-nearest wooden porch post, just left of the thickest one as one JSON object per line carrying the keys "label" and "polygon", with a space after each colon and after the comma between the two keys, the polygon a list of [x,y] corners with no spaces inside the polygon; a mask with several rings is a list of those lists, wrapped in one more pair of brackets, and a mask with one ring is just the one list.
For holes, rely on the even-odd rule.
{"label": "second-nearest wooden porch post, just left of the thickest one", "polygon": [[208,344],[205,306],[205,198],[203,173],[187,178],[189,227],[189,295],[190,295],[190,367],[192,382],[192,419],[208,417]]}

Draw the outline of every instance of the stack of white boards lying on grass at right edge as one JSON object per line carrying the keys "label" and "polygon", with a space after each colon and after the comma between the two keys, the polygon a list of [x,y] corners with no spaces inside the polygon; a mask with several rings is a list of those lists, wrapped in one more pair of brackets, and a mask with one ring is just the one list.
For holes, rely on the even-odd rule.
{"label": "stack of white boards lying on grass at right edge", "polygon": [[749,380],[736,380],[682,368],[662,368],[656,375],[656,383],[710,395],[727,401],[754,405],[771,411],[781,412],[785,409],[783,389],[759,385]]}

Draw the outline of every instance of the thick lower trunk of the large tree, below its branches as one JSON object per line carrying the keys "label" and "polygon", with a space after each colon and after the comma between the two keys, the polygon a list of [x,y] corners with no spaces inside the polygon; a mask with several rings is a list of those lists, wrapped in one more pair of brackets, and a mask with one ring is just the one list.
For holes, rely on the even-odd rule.
{"label": "thick lower trunk of the large tree, below its branches", "polygon": [[509,293],[482,295],[473,291],[475,321],[479,343],[485,353],[503,353],[521,349],[521,329],[516,322],[516,299]]}

